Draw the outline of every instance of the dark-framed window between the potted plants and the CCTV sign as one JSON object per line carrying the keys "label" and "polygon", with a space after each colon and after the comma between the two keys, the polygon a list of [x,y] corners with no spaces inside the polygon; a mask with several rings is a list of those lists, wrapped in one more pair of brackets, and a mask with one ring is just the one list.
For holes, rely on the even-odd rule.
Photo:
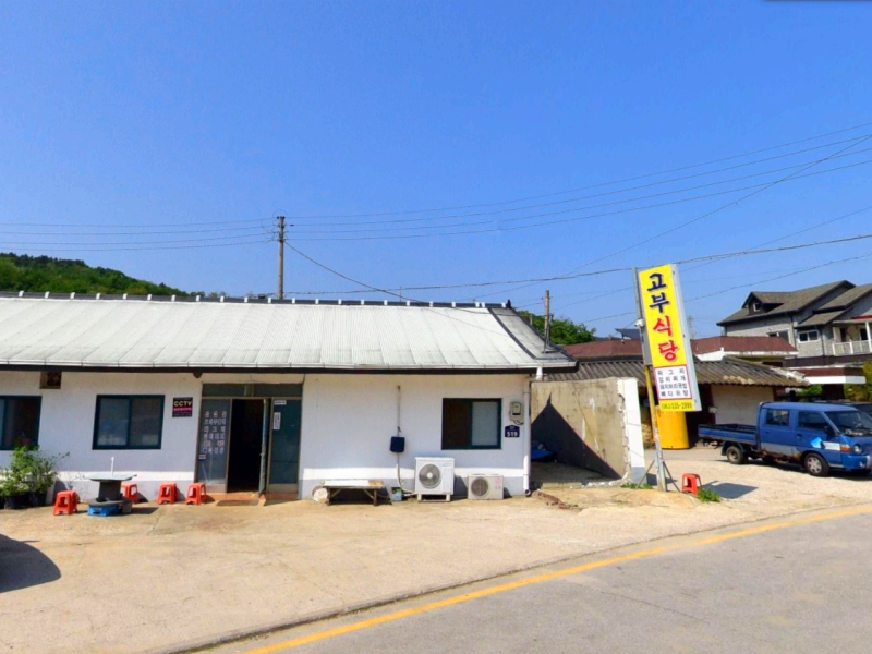
{"label": "dark-framed window between the potted plants and the CCTV sign", "polygon": [[94,449],[160,449],[164,396],[97,396]]}

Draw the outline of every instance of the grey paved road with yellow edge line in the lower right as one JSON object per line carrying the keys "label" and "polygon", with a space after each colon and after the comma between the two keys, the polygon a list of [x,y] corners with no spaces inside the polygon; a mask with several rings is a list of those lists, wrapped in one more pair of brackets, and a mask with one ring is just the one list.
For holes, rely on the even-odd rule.
{"label": "grey paved road with yellow edge line in the lower right", "polygon": [[[825,518],[673,540],[665,552],[627,550],[593,569],[596,558],[580,559],[215,652],[865,654],[872,513]],[[487,556],[487,546],[458,556]],[[484,595],[457,602],[464,592]]]}

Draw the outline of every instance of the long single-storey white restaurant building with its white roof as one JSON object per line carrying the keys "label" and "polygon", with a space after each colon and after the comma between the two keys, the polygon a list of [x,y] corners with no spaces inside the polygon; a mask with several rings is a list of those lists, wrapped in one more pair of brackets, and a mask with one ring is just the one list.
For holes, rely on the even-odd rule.
{"label": "long single-storey white restaurant building with its white roof", "polygon": [[4,293],[0,450],[69,452],[61,481],[83,497],[112,460],[149,498],[192,481],[308,497],[396,486],[398,465],[412,489],[423,456],[455,459],[460,494],[470,473],[521,494],[530,382],[574,367],[506,305]]}

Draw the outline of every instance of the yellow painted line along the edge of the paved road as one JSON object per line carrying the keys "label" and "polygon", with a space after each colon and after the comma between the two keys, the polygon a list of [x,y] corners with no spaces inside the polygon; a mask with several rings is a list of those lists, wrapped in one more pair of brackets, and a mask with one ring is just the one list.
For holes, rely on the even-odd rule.
{"label": "yellow painted line along the edge of the paved road", "polygon": [[365,620],[359,620],[356,622],[351,622],[349,625],[342,625],[340,627],[335,627],[332,629],[326,629],[324,631],[316,631],[315,633],[310,633],[308,635],[301,635],[299,638],[293,638],[280,643],[275,643],[271,645],[265,645],[263,647],[256,647],[254,650],[247,650],[242,652],[241,654],[272,654],[274,652],[279,652],[281,650],[290,650],[292,647],[299,647],[301,645],[306,645],[308,643],[314,643],[317,641],[327,640],[330,638],[336,638],[337,635],[343,635],[346,633],[353,633],[354,631],[360,631],[362,629],[368,629],[371,627],[377,627],[378,625],[385,625],[386,622],[392,622],[395,620],[401,620],[402,618],[408,618],[411,616],[421,615],[424,613],[429,613],[433,610],[437,610],[440,608],[446,608],[448,606],[455,606],[457,604],[462,604],[464,602],[470,602],[472,600],[479,600],[481,597],[487,597],[488,595],[495,595],[497,593],[505,593],[506,591],[513,591],[517,589],[521,589],[534,583],[542,583],[544,581],[552,581],[554,579],[560,579],[561,577],[569,577],[571,574],[578,574],[579,572],[586,572],[589,570],[595,570],[597,568],[606,568],[608,566],[616,566],[618,564],[625,564],[627,561],[632,561],[635,559],[647,558],[651,556],[656,556],[658,554],[665,554],[667,552],[677,552],[680,549],[689,549],[691,547],[699,547],[701,545],[712,545],[715,543],[723,543],[725,541],[732,541],[735,538],[743,538],[746,536],[753,536],[755,534],[762,534],[770,531],[775,531],[778,529],[787,529],[790,526],[799,526],[802,524],[809,524],[812,522],[821,522],[824,520],[835,520],[837,518],[847,518],[849,516],[859,516],[862,513],[872,512],[872,506],[865,505],[861,507],[852,507],[849,509],[843,509],[839,511],[832,511],[827,513],[816,514],[816,516],[806,516],[802,518],[795,518],[791,520],[784,520],[780,522],[771,522],[768,524],[761,524],[758,526],[751,526],[742,530],[738,530],[735,532],[728,532],[726,534],[718,534],[716,536],[710,536],[707,538],[700,538],[690,541],[687,543],[677,543],[674,545],[664,545],[659,547],[651,547],[649,549],[642,549],[640,552],[633,552],[631,554],[622,554],[619,556],[613,556],[609,558],[600,559],[596,561],[591,561],[589,564],[583,564],[581,566],[573,566],[571,568],[564,568],[561,570],[553,570],[550,572],[543,572],[542,574],[534,574],[532,577],[524,577],[523,579],[518,579],[516,581],[509,581],[506,583],[496,584],[486,589],[481,589],[479,591],[472,591],[469,593],[462,593],[460,595],[455,595],[453,597],[447,597],[445,600],[438,600],[436,602],[431,602],[428,604],[422,604],[421,606],[414,606],[411,608],[404,608],[401,610],[397,610],[393,613],[385,614],[383,616],[377,616],[374,618],[367,618]]}

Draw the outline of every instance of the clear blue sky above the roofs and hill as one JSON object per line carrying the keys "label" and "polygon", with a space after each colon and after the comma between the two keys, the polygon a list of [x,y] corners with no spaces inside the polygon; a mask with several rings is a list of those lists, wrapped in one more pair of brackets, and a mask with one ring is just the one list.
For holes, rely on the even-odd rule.
{"label": "clear blue sky above the roofs and hill", "polygon": [[[2,2],[0,250],[242,294],[276,289],[279,213],[391,289],[872,232],[815,227],[872,206],[872,124],[847,130],[872,123],[870,32],[852,2]],[[682,266],[688,313],[711,335],[753,288],[872,281],[843,261],[870,246]],[[548,288],[605,335],[630,283],[403,295],[541,311]],[[362,296],[293,252],[286,290]]]}

